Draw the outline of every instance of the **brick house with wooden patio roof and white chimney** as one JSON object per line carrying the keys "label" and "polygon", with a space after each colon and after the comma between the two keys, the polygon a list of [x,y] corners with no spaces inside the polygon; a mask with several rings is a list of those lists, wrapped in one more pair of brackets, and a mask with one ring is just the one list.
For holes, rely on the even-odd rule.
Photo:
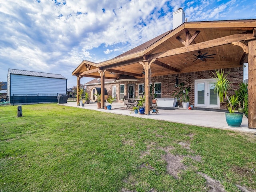
{"label": "brick house with wooden patio roof and white chimney", "polygon": [[[249,128],[256,128],[256,20],[181,22],[174,29],[145,42],[111,60],[93,63],[84,60],[73,72],[78,85],[83,76],[116,81],[118,102],[123,95],[146,98],[146,114],[150,114],[150,88],[158,98],[170,98],[177,88],[176,81],[191,87],[190,104],[205,108],[225,108],[212,91],[212,72],[230,72],[233,88],[243,81],[244,63],[248,63]],[[130,76],[134,80],[123,79]],[[204,92],[204,95],[200,93]],[[103,97],[104,95],[102,95]],[[102,103],[104,106],[104,102]]]}

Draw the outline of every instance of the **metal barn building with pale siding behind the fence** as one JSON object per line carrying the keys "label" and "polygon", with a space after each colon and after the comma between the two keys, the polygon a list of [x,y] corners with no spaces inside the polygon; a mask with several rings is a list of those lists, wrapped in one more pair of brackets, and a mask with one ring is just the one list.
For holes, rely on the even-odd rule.
{"label": "metal barn building with pale siding behind the fence", "polygon": [[67,78],[60,74],[8,69],[10,104],[57,102],[57,96],[66,91]]}

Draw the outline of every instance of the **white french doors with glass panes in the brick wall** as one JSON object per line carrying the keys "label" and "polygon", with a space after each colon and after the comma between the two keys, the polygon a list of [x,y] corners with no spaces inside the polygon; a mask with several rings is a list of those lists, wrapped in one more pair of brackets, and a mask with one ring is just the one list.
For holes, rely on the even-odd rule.
{"label": "white french doors with glass panes in the brick wall", "polygon": [[195,80],[195,106],[220,108],[220,100],[217,93],[214,93],[213,79]]}

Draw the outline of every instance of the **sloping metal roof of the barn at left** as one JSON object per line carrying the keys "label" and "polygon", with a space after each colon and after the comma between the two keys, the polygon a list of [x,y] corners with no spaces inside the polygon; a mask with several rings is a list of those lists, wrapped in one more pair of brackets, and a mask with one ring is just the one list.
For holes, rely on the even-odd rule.
{"label": "sloping metal roof of the barn at left", "polygon": [[9,69],[10,74],[16,75],[27,75],[27,76],[38,76],[38,77],[48,77],[48,78],[57,78],[57,79],[67,79],[66,77],[60,74],[52,74],[52,73],[43,73],[36,71],[26,71],[26,70],[18,70],[18,69]]}

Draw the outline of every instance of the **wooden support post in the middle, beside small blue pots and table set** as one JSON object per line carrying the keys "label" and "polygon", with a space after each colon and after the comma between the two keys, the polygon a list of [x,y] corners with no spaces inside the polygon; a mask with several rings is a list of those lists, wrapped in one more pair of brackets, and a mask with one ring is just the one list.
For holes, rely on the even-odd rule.
{"label": "wooden support post in the middle, beside small blue pots and table set", "polygon": [[150,115],[150,68],[149,61],[145,61],[145,114]]}

